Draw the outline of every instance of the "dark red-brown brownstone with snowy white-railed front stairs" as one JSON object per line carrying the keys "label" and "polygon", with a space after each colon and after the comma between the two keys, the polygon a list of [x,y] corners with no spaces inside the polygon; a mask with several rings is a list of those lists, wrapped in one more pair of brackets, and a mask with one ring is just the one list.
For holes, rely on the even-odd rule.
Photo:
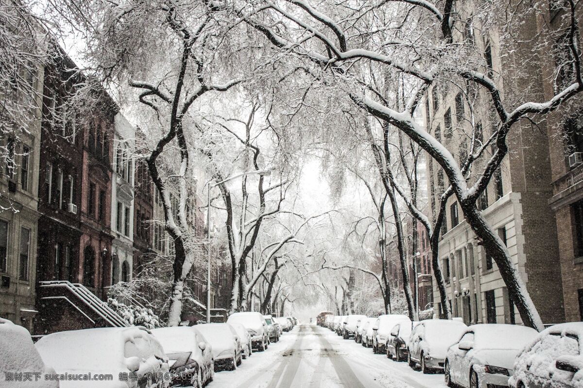
{"label": "dark red-brown brownstone with snowy white-railed front stairs", "polygon": [[[100,298],[111,279],[111,139],[106,92],[73,109],[83,76],[58,47],[44,73],[38,180],[37,334],[125,326]],[[93,91],[92,91],[93,93]],[[78,284],[82,283],[82,284]]]}

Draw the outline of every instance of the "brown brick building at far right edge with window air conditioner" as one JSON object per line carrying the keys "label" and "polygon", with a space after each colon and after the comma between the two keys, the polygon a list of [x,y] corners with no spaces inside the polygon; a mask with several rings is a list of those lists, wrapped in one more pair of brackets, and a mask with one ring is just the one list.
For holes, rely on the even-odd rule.
{"label": "brown brick building at far right edge with window air conditioner", "polygon": [[[553,2],[551,2],[553,4]],[[554,40],[541,49],[545,99],[557,88],[573,82],[573,68],[564,63],[567,36],[566,13],[549,8],[539,24],[556,31]],[[580,25],[582,20],[579,21]],[[550,55],[549,55],[550,54]],[[577,97],[563,104],[547,118],[552,197],[548,203],[556,218],[559,259],[567,322],[583,321],[583,100]]]}

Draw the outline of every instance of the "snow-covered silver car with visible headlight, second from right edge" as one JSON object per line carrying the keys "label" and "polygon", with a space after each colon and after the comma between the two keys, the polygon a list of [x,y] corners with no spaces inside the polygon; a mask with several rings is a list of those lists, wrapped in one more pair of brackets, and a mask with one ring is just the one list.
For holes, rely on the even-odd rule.
{"label": "snow-covered silver car with visible headlight, second from right edge", "polygon": [[518,352],[538,332],[518,325],[469,326],[445,358],[445,384],[466,388],[507,387]]}

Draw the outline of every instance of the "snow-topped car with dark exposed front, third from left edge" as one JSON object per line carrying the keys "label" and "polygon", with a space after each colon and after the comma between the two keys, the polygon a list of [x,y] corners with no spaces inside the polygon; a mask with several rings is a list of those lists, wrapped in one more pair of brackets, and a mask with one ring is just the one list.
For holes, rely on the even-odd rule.
{"label": "snow-topped car with dark exposed front, third from left edge", "polygon": [[213,380],[212,345],[194,327],[172,326],[150,330],[168,356],[172,383],[202,387]]}

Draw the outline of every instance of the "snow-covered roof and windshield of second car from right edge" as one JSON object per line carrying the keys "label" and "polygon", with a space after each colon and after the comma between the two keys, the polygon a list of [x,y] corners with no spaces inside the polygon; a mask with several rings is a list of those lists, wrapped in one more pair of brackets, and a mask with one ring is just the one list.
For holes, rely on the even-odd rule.
{"label": "snow-covered roof and windshield of second car from right edge", "polygon": [[535,329],[520,325],[505,325],[503,323],[482,323],[468,326],[466,332],[476,334],[475,349],[520,350],[531,343],[538,332]]}

